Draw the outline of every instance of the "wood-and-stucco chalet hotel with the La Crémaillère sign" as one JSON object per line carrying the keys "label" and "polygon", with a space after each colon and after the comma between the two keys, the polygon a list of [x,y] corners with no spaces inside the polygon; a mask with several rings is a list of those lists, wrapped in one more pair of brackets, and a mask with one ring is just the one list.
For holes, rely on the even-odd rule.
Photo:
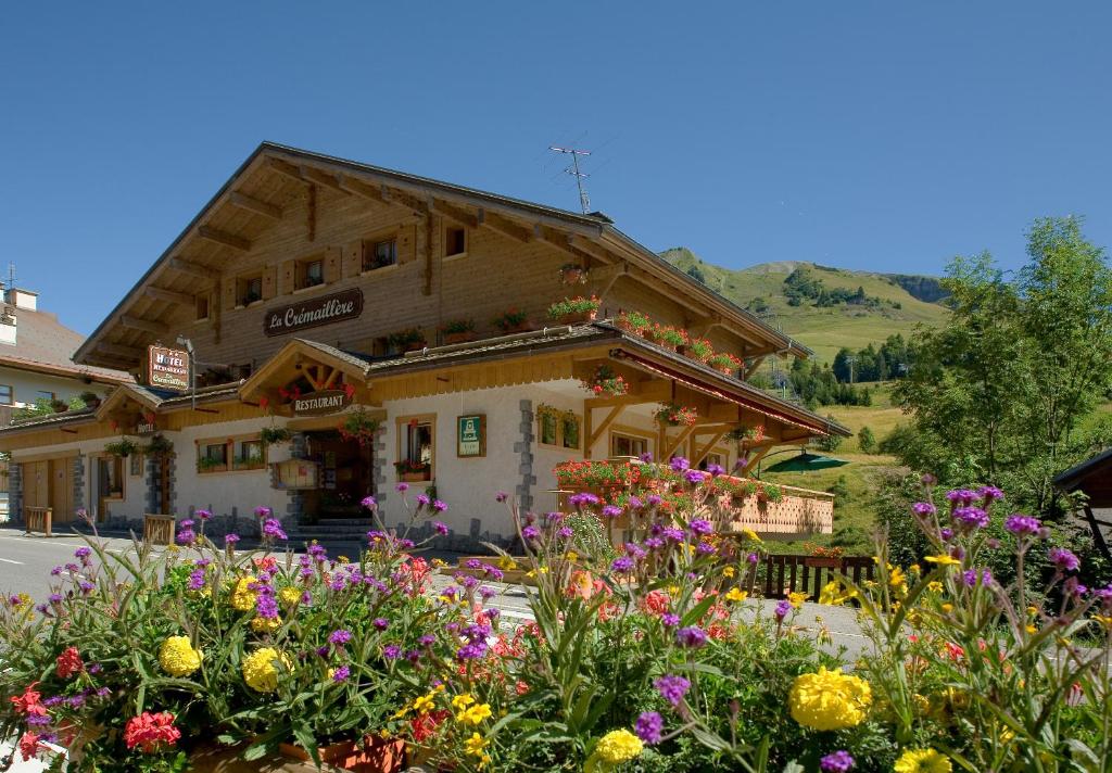
{"label": "wood-and-stucco chalet hotel with the La Cr\u00e9maill\u00e8re sign", "polygon": [[[563,284],[568,265],[585,284]],[[719,373],[608,321],[546,319],[552,303],[590,294],[604,320],[639,310],[683,326],[745,360],[742,374],[768,356],[810,354],[600,214],[264,143],[76,356],[143,373],[148,346],[188,339],[200,364],[195,398],[121,386],[96,410],[0,432],[0,450],[17,467],[72,468],[56,521],[77,506],[102,521],[203,506],[241,528],[265,505],[304,534],[357,515],[354,503],[374,493],[396,524],[404,465],[415,489],[435,485],[449,503],[443,521],[457,534],[497,541],[513,526],[495,492],[550,509],[562,460],[648,452],[729,467],[741,446],[728,434],[761,427],[743,449],[745,472],[773,446],[848,434],[751,387],[737,369]],[[495,325],[510,309],[533,323],[526,331]],[[445,343],[446,329],[466,327],[476,340]],[[628,394],[585,389],[599,366],[625,378]],[[658,426],[661,403],[694,408],[697,423]],[[381,429],[367,445],[337,432],[369,419]],[[271,427],[291,439],[264,445]],[[173,453],[106,453],[140,429]],[[26,477],[13,474],[13,484]],[[21,493],[28,505],[56,501]]]}

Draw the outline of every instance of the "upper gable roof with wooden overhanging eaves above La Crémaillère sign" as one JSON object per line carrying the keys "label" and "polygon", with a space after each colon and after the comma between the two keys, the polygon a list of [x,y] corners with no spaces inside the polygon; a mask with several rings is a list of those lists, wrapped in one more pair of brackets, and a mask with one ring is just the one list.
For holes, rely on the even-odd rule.
{"label": "upper gable roof with wooden overhanging eaves above La Cr\u00e9maill\u00e8re sign", "polygon": [[[728,325],[783,353],[811,350],[737,307],[647,247],[618,230],[605,215],[582,215],[441,180],[262,142],[140,277],[75,354],[78,363],[135,367],[142,347],[127,331],[170,333],[159,301],[192,304],[190,283],[211,281],[219,267],[250,249],[282,215],[284,197],[307,184],[401,210],[436,214],[522,241],[542,239],[572,256],[609,264],[606,271],[662,283],[674,297],[699,309],[708,324]],[[284,194],[285,191],[285,194]],[[684,300],[686,299],[686,300]]]}

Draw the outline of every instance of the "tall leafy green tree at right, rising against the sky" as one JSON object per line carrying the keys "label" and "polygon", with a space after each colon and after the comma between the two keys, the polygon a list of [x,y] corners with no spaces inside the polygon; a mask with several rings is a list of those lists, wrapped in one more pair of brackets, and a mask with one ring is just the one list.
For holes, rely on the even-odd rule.
{"label": "tall leafy green tree at right, rising against the sky", "polygon": [[987,254],[950,265],[953,314],[917,331],[894,392],[915,436],[897,442],[905,464],[1053,515],[1054,475],[1112,439],[1106,422],[1085,427],[1112,389],[1112,269],[1075,218],[1035,221],[1027,257],[1014,278]]}

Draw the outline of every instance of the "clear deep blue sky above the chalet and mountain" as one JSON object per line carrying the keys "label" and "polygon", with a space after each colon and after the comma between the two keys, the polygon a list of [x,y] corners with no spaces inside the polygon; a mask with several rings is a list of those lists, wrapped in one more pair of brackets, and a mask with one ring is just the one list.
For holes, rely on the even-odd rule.
{"label": "clear deep blue sky above the chalet and mountain", "polygon": [[[0,265],[89,333],[262,139],[569,209],[643,244],[940,272],[1041,215],[1112,245],[1112,7],[19,3]],[[4,274],[7,271],[4,270]]]}

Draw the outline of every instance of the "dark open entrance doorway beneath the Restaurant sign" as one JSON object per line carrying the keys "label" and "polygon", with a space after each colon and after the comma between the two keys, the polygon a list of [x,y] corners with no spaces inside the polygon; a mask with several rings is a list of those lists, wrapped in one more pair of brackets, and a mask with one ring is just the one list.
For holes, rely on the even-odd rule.
{"label": "dark open entrance doorway beneath the Restaurant sign", "polygon": [[307,438],[309,458],[320,465],[320,486],[306,492],[306,512],[321,519],[367,517],[359,503],[375,493],[374,449],[334,430]]}

